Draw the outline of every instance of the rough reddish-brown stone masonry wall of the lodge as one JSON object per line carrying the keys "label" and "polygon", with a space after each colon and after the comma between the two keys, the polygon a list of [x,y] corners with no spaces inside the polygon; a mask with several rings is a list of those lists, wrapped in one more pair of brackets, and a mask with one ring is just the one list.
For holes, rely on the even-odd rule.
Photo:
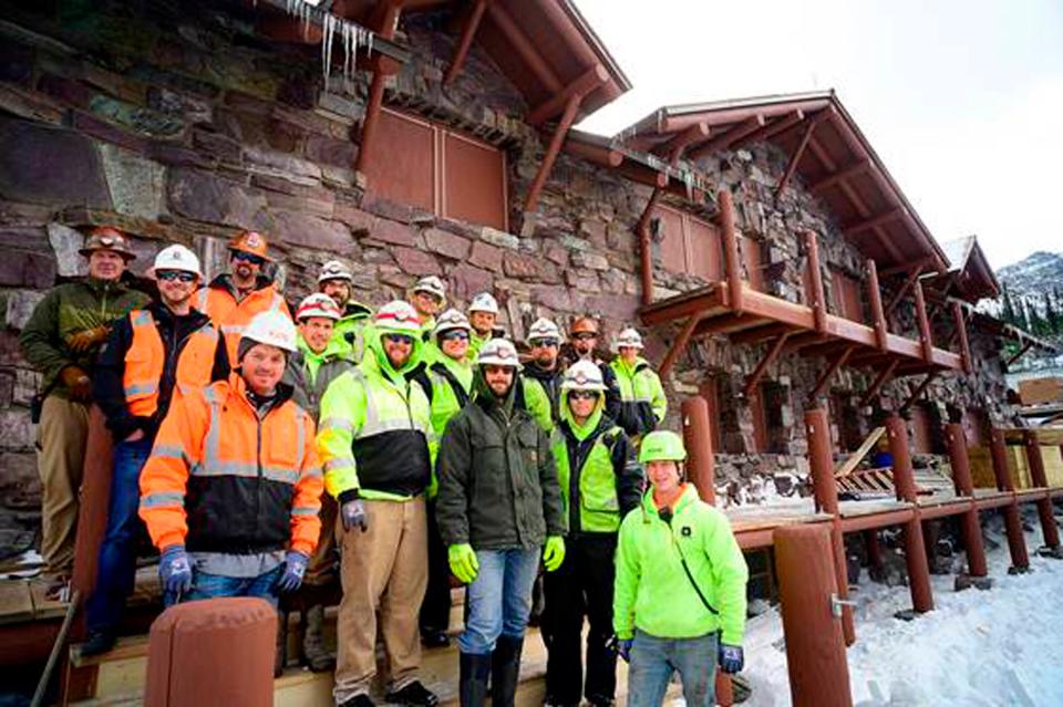
{"label": "rough reddish-brown stone masonry wall of the lodge", "polygon": [[[167,241],[189,243],[210,274],[224,264],[226,239],[254,228],[275,245],[277,275],[295,301],[313,287],[318,267],[341,257],[355,263],[357,295],[380,304],[402,297],[423,274],[442,275],[458,306],[481,291],[498,298],[502,321],[523,339],[537,316],[568,324],[589,312],[607,337],[636,321],[639,306],[634,225],[650,190],[568,155],[544,190],[534,229],[518,236],[524,195],[543,154],[543,138],[519,116],[523,97],[473,45],[452,87],[441,81],[453,37],[441,15],[404,21],[400,40],[414,61],[388,90],[405,106],[481,136],[507,152],[510,231],[437,218],[373,197],[352,170],[358,155],[365,76],[333,72],[323,85],[317,49],[283,48],[254,37],[240,19],[176,10],[153,1],[141,13],[124,3],[72,13],[63,24],[18,13],[28,32],[3,30],[0,42],[0,498],[38,501],[34,430],[29,402],[38,378],[18,352],[17,336],[56,278],[83,272],[79,228],[115,222],[134,235],[143,272]],[[184,10],[198,7],[185,3]],[[118,10],[121,9],[121,10]],[[740,229],[761,249],[765,280],[777,297],[803,301],[805,258],[796,233],[822,235],[827,266],[861,278],[863,258],[839,235],[799,180],[776,199],[786,156],[768,145],[702,162],[710,180],[732,189]],[[826,274],[826,272],[825,272]],[[657,269],[659,294],[699,284]],[[824,277],[827,295],[830,278]],[[911,316],[897,325],[915,336]],[[659,362],[675,335],[646,331],[647,356]],[[945,334],[942,334],[943,337]],[[950,375],[931,389],[937,405],[984,407],[999,417],[1003,377],[991,341],[972,336],[978,374]],[[740,394],[762,347],[710,339],[681,357],[665,382],[678,428],[680,401],[705,376],[720,389],[723,451],[718,476],[733,501],[773,490],[804,489],[802,425],[819,361],[787,356],[768,372],[766,408],[773,454],[756,454],[750,405]],[[854,406],[867,378],[837,376],[838,403]],[[891,384],[887,406],[918,381]],[[846,412],[853,412],[849,407]],[[870,409],[859,427],[870,427]],[[945,410],[942,410],[943,416]],[[857,430],[857,432],[860,432]]]}

